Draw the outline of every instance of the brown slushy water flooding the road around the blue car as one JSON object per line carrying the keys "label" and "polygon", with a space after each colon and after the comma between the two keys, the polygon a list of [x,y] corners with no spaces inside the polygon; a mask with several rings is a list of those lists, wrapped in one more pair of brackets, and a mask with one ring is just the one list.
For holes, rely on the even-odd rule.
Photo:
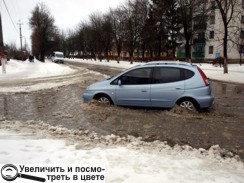
{"label": "brown slushy water flooding the road around the blue car", "polygon": [[[106,75],[120,71],[84,64],[82,67]],[[219,144],[244,157],[244,85],[212,81],[215,103],[201,113],[188,113],[178,107],[166,110],[84,104],[85,88],[102,78],[103,75],[91,73],[85,80],[80,78],[80,82],[68,86],[0,94],[0,121],[44,121],[99,135],[133,135],[145,141],[161,140],[195,148],[208,149]]]}

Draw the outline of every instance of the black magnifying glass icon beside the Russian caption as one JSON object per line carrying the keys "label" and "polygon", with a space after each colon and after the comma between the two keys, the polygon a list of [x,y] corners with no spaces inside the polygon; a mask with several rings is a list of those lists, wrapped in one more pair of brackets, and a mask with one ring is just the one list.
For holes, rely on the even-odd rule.
{"label": "black magnifying glass icon beside the Russian caption", "polygon": [[18,173],[18,168],[12,164],[4,165],[1,169],[1,174],[2,174],[3,179],[6,181],[14,181],[17,177],[35,180],[35,181],[39,181],[39,182],[46,181],[45,178]]}

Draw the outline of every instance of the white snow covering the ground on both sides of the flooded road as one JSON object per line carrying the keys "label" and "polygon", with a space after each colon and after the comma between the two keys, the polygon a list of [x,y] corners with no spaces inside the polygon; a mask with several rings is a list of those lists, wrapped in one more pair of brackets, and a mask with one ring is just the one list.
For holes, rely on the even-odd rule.
{"label": "white snow covering the ground on both sides of the flooded road", "polygon": [[[120,68],[138,64],[72,61]],[[244,82],[244,66],[229,65],[229,74],[225,75],[222,69],[210,64],[200,67],[212,79]],[[0,81],[59,76],[72,72],[74,70],[65,65],[51,62],[11,60],[7,65],[7,74],[2,74],[0,70]],[[75,138],[74,134],[80,134],[80,138]],[[222,151],[218,146],[210,150],[197,150],[188,146],[171,148],[157,141],[145,143],[133,137],[97,137],[91,132],[69,131],[43,122],[0,123],[0,164],[104,164],[106,182],[244,182],[244,163],[236,157],[222,158]]]}

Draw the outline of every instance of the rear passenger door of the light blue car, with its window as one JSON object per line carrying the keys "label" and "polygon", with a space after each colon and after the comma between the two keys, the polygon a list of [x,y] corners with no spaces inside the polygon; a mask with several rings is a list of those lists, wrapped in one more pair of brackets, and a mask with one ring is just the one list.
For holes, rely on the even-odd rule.
{"label": "rear passenger door of the light blue car, with its window", "polygon": [[155,67],[151,85],[151,103],[156,107],[173,107],[184,93],[183,71],[177,67]]}

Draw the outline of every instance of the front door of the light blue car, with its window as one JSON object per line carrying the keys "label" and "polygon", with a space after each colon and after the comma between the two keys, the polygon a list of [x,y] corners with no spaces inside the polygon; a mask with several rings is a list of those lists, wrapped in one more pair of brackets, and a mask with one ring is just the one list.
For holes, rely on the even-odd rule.
{"label": "front door of the light blue car, with its window", "polygon": [[118,78],[116,103],[127,106],[150,106],[152,68],[138,68]]}

